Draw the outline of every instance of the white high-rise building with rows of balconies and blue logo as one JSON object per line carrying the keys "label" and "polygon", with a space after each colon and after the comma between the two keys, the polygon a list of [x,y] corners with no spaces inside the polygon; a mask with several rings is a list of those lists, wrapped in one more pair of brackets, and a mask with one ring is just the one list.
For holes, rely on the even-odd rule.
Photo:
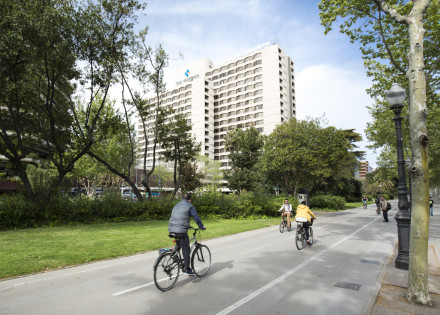
{"label": "white high-rise building with rows of balconies and blue logo", "polygon": [[[176,79],[176,87],[161,94],[160,106],[185,114],[201,153],[219,160],[222,168],[228,167],[224,138],[229,131],[254,126],[270,134],[277,124],[296,117],[294,64],[275,44],[259,45],[219,66],[209,59],[193,61],[177,71]],[[148,124],[153,126],[154,117]],[[138,145],[141,158],[141,132]],[[147,153],[151,160],[152,145]]]}

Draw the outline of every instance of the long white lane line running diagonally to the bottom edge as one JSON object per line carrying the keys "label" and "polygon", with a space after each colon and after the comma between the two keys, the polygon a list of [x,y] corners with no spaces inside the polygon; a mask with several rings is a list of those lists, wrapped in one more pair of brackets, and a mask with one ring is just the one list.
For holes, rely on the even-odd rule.
{"label": "long white lane line running diagonally to the bottom edge", "polygon": [[328,247],[327,249],[324,249],[323,251],[321,251],[320,253],[310,257],[309,259],[307,259],[306,261],[304,261],[302,264],[296,266],[295,268],[291,269],[290,271],[286,272],[285,274],[281,275],[280,277],[278,277],[277,279],[273,280],[272,282],[266,284],[265,286],[261,287],[260,289],[258,289],[257,291],[249,294],[248,296],[244,297],[243,299],[235,302],[234,304],[232,304],[231,306],[225,308],[224,310],[220,311],[219,313],[217,313],[217,315],[226,315],[229,314],[230,312],[232,312],[233,310],[239,308],[241,305],[249,302],[250,300],[252,300],[253,298],[257,297],[258,295],[260,295],[261,293],[263,293],[264,291],[272,288],[273,286],[275,286],[276,284],[278,284],[279,282],[283,281],[284,279],[286,279],[287,277],[291,276],[292,274],[294,274],[295,272],[297,272],[298,270],[300,270],[302,267],[306,266],[308,263],[312,262],[313,260],[318,259],[320,256],[324,255],[325,253],[327,253],[329,250],[331,250],[333,247],[338,246],[339,244],[345,242],[346,240],[348,240],[349,238],[351,238],[353,235],[359,233],[360,231],[362,231],[363,229],[365,229],[367,226],[369,226],[370,224],[372,224],[373,222],[375,222],[378,218],[374,219],[373,221],[365,224],[364,226],[362,226],[361,228],[357,229],[356,231],[354,231],[353,233],[351,233],[350,235],[347,235],[346,237],[344,237],[343,239],[341,239],[339,242],[333,244],[332,246]]}

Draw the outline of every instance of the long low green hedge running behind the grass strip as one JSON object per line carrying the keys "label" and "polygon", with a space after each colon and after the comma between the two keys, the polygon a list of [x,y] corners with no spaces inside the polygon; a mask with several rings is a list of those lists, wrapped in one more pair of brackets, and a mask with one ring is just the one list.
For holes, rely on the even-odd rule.
{"label": "long low green hedge running behind the grass strip", "polygon": [[[279,215],[282,196],[260,193],[194,195],[192,203],[201,218],[253,218]],[[118,194],[98,200],[53,198],[27,201],[21,195],[0,195],[0,229],[137,220],[167,220],[178,199],[153,198],[145,202],[123,200]],[[290,199],[296,208],[298,201]]]}

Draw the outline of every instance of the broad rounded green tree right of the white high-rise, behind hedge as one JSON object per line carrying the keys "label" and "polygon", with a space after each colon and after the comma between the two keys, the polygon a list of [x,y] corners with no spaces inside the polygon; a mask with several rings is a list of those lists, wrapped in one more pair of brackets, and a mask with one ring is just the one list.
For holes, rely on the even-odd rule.
{"label": "broad rounded green tree right of the white high-rise, behind hedge", "polygon": [[296,196],[299,188],[328,185],[329,178],[343,171],[349,147],[344,133],[334,127],[323,128],[317,119],[292,119],[269,135],[263,167],[274,186]]}

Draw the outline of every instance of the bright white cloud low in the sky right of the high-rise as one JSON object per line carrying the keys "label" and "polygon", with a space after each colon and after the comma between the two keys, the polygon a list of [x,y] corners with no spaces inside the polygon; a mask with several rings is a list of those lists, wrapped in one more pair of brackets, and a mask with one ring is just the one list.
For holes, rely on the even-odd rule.
{"label": "bright white cloud low in the sky right of the high-rise", "polygon": [[366,149],[366,123],[371,121],[367,105],[372,100],[365,91],[371,81],[359,69],[338,68],[319,64],[304,68],[295,76],[297,118],[321,117],[330,126],[339,129],[355,129],[363,135],[360,149],[367,151],[366,159],[375,165],[377,154]]}

